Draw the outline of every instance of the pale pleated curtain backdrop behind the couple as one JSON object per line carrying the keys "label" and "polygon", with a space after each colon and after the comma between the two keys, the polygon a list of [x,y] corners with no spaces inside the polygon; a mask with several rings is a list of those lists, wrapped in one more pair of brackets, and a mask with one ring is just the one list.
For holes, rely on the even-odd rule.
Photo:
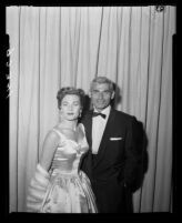
{"label": "pale pleated curtain backdrop behind the couple", "polygon": [[[148,138],[134,212],[172,212],[172,37],[175,7],[7,7],[10,37],[10,212],[26,211],[30,178],[58,122],[57,91],[89,92],[104,75]],[[117,95],[119,99],[119,94]]]}

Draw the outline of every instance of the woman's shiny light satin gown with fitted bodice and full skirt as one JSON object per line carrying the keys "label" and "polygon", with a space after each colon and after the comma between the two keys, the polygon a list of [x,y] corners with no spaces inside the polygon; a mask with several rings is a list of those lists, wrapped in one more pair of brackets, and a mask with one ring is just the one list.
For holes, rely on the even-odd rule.
{"label": "woman's shiny light satin gown with fitted bodice and full skirt", "polygon": [[[82,124],[80,125],[83,128]],[[43,196],[40,196],[43,199],[41,205],[38,205],[39,212],[97,213],[90,180],[83,171],[79,170],[81,156],[89,150],[85,135],[81,142],[75,142],[57,129],[53,131],[59,134],[60,142],[49,175],[44,172],[44,176],[49,178],[49,183],[46,192],[43,191]],[[41,171],[43,173],[40,166]]]}

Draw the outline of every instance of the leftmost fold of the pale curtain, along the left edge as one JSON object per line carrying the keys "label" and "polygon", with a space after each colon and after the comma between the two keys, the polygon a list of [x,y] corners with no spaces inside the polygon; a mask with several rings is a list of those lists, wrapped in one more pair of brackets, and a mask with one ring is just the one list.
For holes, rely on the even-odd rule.
{"label": "leftmost fold of the pale curtain, along the left edge", "polygon": [[[19,104],[19,13],[20,8],[9,8],[11,20],[7,13],[7,28],[10,36],[10,104],[9,104],[9,197],[10,211],[18,206],[18,104]],[[14,62],[16,61],[16,62]],[[11,186],[13,185],[13,186]]]}

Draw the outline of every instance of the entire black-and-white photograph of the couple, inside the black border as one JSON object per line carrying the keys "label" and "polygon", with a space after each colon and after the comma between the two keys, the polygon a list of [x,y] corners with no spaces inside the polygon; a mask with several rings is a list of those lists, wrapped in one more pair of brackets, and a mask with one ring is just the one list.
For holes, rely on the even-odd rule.
{"label": "entire black-and-white photograph of the couple, inside the black border", "polygon": [[174,213],[176,6],[7,6],[9,213]]}

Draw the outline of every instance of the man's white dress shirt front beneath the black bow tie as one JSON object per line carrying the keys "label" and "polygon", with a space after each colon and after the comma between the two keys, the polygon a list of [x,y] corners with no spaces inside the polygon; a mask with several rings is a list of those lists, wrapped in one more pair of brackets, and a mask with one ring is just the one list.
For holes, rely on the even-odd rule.
{"label": "man's white dress shirt front beneath the black bow tie", "polygon": [[[111,107],[109,105],[100,112],[107,115],[105,119],[103,119],[100,115],[92,118],[92,153],[93,154],[98,154],[99,145],[101,143],[105,124],[108,122],[110,110],[111,110]],[[98,112],[97,109],[94,109],[93,111]]]}

